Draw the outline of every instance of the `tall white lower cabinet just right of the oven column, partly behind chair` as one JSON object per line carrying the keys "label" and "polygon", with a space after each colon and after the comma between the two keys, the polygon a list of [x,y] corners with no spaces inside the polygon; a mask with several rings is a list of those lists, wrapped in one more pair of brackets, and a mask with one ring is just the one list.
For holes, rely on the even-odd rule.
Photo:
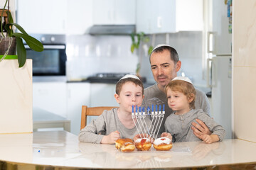
{"label": "tall white lower cabinet just right of the oven column, partly behind chair", "polygon": [[82,105],[90,106],[90,83],[68,83],[67,112],[71,120],[71,130],[80,132]]}

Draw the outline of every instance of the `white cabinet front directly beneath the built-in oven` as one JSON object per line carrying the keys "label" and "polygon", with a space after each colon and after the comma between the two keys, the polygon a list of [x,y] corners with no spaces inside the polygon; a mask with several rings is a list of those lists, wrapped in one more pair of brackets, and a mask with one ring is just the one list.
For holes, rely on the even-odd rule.
{"label": "white cabinet front directly beneath the built-in oven", "polygon": [[33,107],[67,118],[66,83],[33,82]]}

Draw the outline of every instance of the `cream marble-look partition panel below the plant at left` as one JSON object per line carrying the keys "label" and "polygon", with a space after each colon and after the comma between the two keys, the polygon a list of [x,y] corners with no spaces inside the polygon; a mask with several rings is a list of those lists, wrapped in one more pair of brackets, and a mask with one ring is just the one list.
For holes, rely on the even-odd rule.
{"label": "cream marble-look partition panel below the plant at left", "polygon": [[3,60],[0,72],[0,134],[33,132],[32,60]]}

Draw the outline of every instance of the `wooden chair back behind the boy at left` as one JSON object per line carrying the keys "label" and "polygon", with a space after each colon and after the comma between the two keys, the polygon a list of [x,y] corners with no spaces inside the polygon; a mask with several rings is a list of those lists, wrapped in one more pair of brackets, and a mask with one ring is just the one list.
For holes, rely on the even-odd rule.
{"label": "wooden chair back behind the boy at left", "polygon": [[103,111],[107,110],[110,111],[112,108],[117,108],[115,106],[102,106],[102,107],[87,107],[87,106],[82,106],[82,115],[81,115],[81,127],[80,130],[82,130],[82,128],[85,128],[86,126],[86,121],[87,121],[87,115],[101,115],[103,113]]}

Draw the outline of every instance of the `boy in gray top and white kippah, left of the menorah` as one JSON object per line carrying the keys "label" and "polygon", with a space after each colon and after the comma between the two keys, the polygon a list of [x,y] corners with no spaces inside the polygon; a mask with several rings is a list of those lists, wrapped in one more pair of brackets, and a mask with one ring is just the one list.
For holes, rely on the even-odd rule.
{"label": "boy in gray top and white kippah, left of the menorah", "polygon": [[[144,98],[144,87],[139,77],[126,75],[116,84],[114,98],[119,108],[104,111],[97,120],[87,125],[78,135],[80,142],[114,144],[119,138],[133,139],[138,133],[138,123],[132,119],[132,106],[141,106]],[[137,125],[134,125],[134,121]],[[150,120],[145,118],[147,127]],[[144,125],[145,127],[145,125]]]}

